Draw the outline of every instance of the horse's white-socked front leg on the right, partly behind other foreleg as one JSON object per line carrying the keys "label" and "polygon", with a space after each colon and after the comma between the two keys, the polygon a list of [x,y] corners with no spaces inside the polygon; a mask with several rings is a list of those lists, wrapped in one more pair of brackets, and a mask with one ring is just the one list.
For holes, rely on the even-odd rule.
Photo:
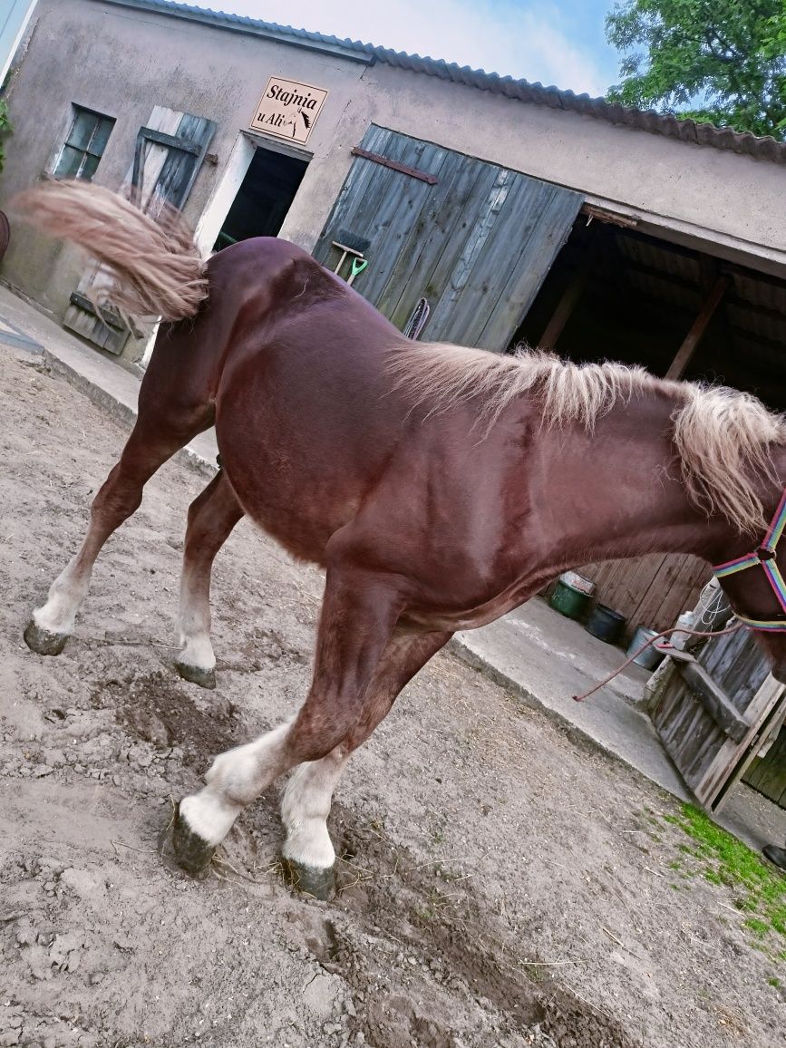
{"label": "horse's white-socked front leg on the right, partly behind other foreleg", "polygon": [[327,828],[333,790],[350,754],[387,717],[401,689],[451,638],[450,633],[394,633],[367,689],[363,712],[350,734],[321,761],[301,764],[281,803],[287,872],[299,888],[327,898],[333,889],[335,851]]}

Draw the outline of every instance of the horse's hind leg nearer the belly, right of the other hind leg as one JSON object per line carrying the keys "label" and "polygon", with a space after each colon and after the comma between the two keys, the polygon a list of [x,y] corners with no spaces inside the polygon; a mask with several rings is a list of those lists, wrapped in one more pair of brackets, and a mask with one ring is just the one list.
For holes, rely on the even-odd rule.
{"label": "horse's hind leg nearer the belly, right of the other hind leg", "polygon": [[223,470],[189,507],[177,616],[181,651],[175,665],[181,677],[202,687],[216,686],[210,636],[213,561],[242,516]]}

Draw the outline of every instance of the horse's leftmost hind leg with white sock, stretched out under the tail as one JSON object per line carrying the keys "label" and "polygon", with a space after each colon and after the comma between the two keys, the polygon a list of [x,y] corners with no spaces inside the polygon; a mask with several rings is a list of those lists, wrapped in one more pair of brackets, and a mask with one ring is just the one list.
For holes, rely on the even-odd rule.
{"label": "horse's leftmost hind leg with white sock, stretched out under the tail", "polygon": [[95,558],[109,536],[141,502],[143,487],[176,451],[210,424],[210,417],[195,415],[191,424],[174,428],[161,420],[137,419],[119,461],[104,481],[90,506],[90,524],[82,547],[51,584],[41,608],[24,631],[27,647],[39,655],[59,655],[87,596]]}

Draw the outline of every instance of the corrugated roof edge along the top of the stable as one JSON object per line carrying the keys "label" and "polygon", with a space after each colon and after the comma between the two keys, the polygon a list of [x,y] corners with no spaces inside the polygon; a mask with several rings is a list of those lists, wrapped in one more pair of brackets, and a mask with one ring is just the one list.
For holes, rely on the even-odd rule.
{"label": "corrugated roof edge along the top of the stable", "polygon": [[770,136],[760,137],[749,132],[741,134],[730,128],[717,128],[712,124],[697,124],[696,121],[681,119],[671,114],[656,113],[653,110],[633,109],[606,102],[605,99],[592,99],[589,94],[574,94],[572,91],[562,91],[553,86],[544,87],[542,84],[530,84],[526,80],[500,77],[496,72],[484,72],[482,69],[459,66],[455,62],[444,62],[442,59],[421,58],[419,54],[408,54],[406,51],[394,51],[388,47],[364,44],[359,40],[340,40],[337,37],[325,36],[322,32],[309,32],[306,29],[277,25],[275,22],[263,22],[244,15],[228,15],[205,7],[194,7],[191,4],[175,3],[173,0],[102,0],[102,2],[118,4],[123,7],[137,7],[141,10],[159,12],[236,32],[267,37],[296,47],[307,47],[311,50],[332,54],[337,53],[356,62],[368,64],[384,62],[386,65],[396,66],[399,69],[409,69],[412,72],[424,73],[439,80],[450,80],[454,84],[464,84],[519,102],[550,106],[552,109],[564,109],[593,116],[596,119],[608,121],[610,124],[637,128],[650,134],[679,138],[680,141],[699,146],[712,146],[714,149],[726,149],[761,160],[786,163],[786,143],[777,141]]}

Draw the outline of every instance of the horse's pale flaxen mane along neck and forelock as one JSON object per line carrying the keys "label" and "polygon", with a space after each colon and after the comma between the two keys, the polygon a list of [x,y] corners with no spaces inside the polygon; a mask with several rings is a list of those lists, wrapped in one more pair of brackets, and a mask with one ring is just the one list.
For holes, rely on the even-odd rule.
{"label": "horse's pale flaxen mane along neck and forelock", "polygon": [[784,480],[776,476],[770,452],[786,443],[786,419],[738,390],[668,381],[621,364],[577,365],[540,350],[510,356],[446,343],[396,348],[389,372],[396,389],[430,414],[474,401],[483,435],[527,393],[541,401],[545,425],[577,423],[589,431],[615,405],[648,392],[667,393],[676,401],[672,439],[689,497],[707,514],[723,514],[742,532],[766,526],[757,490],[762,479]]}

